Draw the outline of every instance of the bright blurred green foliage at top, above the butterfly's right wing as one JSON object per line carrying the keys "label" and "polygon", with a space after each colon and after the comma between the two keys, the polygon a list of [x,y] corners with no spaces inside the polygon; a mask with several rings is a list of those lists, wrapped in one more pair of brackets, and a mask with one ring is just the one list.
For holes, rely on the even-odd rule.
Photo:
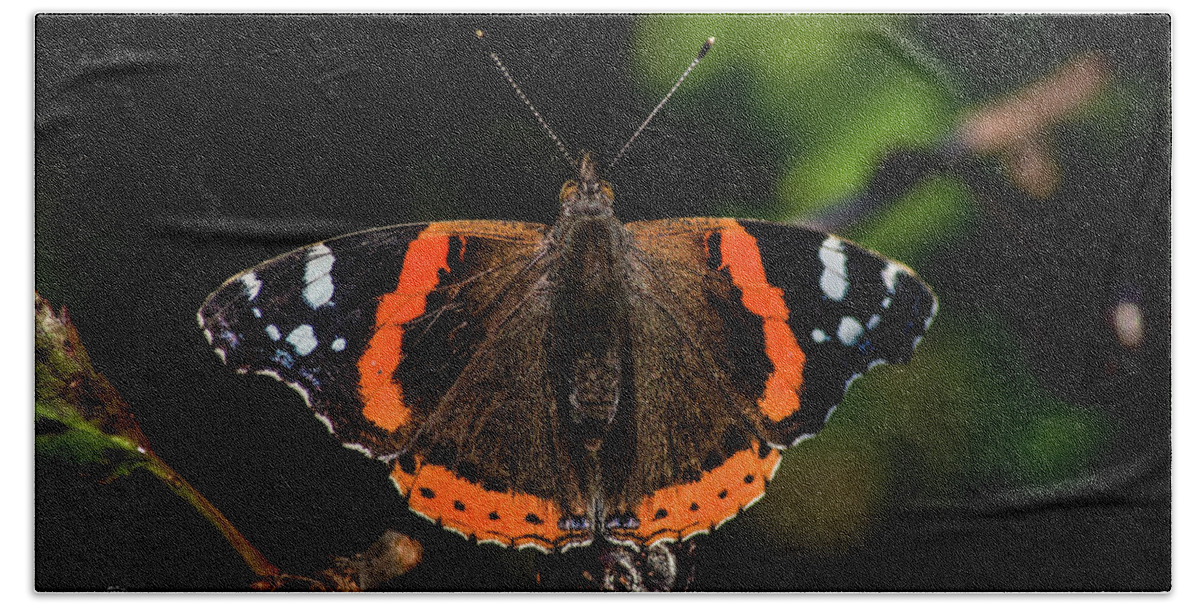
{"label": "bright blurred green foliage at top, above the butterfly's right wing", "polygon": [[[647,90],[666,90],[679,58],[715,36],[686,89],[702,95],[720,79],[745,83],[748,120],[784,138],[775,188],[778,218],[803,217],[860,192],[880,158],[900,146],[934,146],[954,128],[954,96],[901,36],[904,16],[655,16],[636,30],[635,66]],[[680,94],[686,96],[686,94]],[[743,204],[745,201],[742,201]],[[848,236],[916,263],[928,234],[960,234],[970,217],[966,191],[929,183],[884,219]]]}

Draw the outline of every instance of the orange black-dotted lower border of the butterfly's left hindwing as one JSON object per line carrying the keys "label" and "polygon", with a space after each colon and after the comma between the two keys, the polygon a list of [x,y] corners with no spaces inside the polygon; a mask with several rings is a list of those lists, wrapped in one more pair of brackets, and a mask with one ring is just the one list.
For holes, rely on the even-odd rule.
{"label": "orange black-dotted lower border of the butterfly's left hindwing", "polygon": [[406,472],[392,465],[391,480],[408,498],[414,513],[479,543],[504,547],[533,547],[545,553],[587,544],[590,530],[563,530],[562,510],[552,501],[520,492],[484,489],[445,466],[422,464]]}

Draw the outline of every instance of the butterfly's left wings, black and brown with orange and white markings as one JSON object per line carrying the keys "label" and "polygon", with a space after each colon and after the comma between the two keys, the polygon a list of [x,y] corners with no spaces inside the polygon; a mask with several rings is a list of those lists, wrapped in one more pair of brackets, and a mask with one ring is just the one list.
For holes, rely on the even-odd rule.
{"label": "butterfly's left wings, black and brown with orange and white markings", "polygon": [[199,323],[226,363],[287,383],[344,445],[392,460],[418,514],[480,542],[586,542],[562,525],[580,498],[542,351],[547,230],[442,222],[332,239],[234,276]]}

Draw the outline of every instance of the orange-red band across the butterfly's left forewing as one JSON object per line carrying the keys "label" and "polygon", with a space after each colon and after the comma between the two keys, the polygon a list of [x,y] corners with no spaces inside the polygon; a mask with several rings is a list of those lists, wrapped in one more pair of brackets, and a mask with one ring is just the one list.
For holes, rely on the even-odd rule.
{"label": "orange-red band across the butterfly's left forewing", "polygon": [[408,243],[396,290],[379,300],[374,336],[359,357],[362,415],[388,432],[408,425],[413,415],[404,404],[403,387],[392,380],[403,356],[404,324],[425,312],[425,299],[438,287],[438,271],[450,270],[449,253],[450,237],[433,227]]}

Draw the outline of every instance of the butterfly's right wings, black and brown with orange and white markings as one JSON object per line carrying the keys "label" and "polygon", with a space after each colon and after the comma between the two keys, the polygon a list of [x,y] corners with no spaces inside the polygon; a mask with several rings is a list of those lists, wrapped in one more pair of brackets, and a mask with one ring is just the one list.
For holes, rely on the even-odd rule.
{"label": "butterfly's right wings, black and brown with orange and white markings", "polygon": [[[707,531],[756,501],[779,450],[850,383],[907,361],[936,311],[907,267],[835,236],[722,218],[626,224],[636,446],[614,540]],[[682,481],[680,481],[682,480]]]}

